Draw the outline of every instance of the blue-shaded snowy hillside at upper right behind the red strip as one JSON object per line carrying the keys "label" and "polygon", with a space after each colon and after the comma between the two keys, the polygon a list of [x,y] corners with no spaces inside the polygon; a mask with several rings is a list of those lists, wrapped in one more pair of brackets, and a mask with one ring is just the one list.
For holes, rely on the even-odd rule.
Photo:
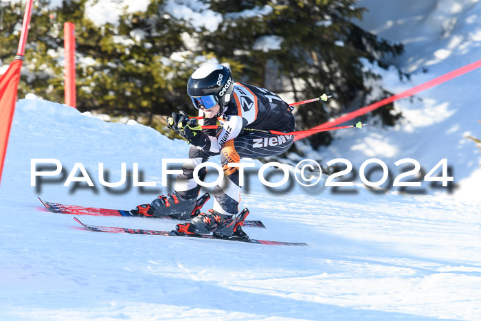
{"label": "blue-shaded snowy hillside at upper right behind the red strip", "polygon": [[[383,76],[381,82],[392,93],[401,93],[449,71],[480,59],[481,2],[479,0],[426,1],[361,0],[368,8],[361,27],[390,41],[401,42],[405,54],[394,63],[411,73],[410,80],[399,80],[394,69],[373,68]],[[393,129],[368,126],[362,131],[336,133],[341,138],[322,148],[317,157],[342,157],[355,168],[368,157],[394,162],[412,157],[427,170],[441,158],[453,167],[456,199],[481,201],[481,153],[469,136],[481,137],[479,83],[481,70],[454,78],[421,91],[412,99],[394,102],[403,120]],[[375,95],[375,93],[374,93]],[[423,187],[425,184],[423,183]],[[428,193],[438,192],[427,190]]]}

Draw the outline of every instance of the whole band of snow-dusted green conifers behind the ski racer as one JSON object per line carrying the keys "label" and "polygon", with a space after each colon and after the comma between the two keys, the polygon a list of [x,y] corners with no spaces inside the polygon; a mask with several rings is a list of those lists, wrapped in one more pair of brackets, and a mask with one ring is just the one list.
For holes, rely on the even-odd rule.
{"label": "whole band of snow-dusted green conifers behind the ski racer", "polygon": [[[229,63],[237,81],[290,93],[295,101],[332,94],[328,104],[309,104],[295,112],[298,129],[306,129],[367,103],[366,80],[379,75],[365,63],[387,68],[387,58],[403,51],[401,45],[383,41],[352,22],[364,10],[356,0],[151,0],[145,12],[124,10],[109,23],[88,19],[92,3],[69,0],[54,8],[49,0],[35,2],[24,63],[28,72],[21,80],[20,97],[34,92],[63,102],[67,21],[76,25],[78,109],[147,114],[150,120],[154,114],[181,109],[195,113],[186,82],[202,61],[212,58]],[[199,25],[187,16],[170,14],[172,5],[197,12],[197,20],[202,16],[199,10],[210,10],[221,16],[221,22],[216,28],[206,27],[208,21]],[[1,3],[3,64],[14,58],[22,16],[22,3]],[[400,116],[392,115],[391,109],[378,111],[385,124]],[[311,140],[315,146],[328,144],[331,135],[321,133]]]}

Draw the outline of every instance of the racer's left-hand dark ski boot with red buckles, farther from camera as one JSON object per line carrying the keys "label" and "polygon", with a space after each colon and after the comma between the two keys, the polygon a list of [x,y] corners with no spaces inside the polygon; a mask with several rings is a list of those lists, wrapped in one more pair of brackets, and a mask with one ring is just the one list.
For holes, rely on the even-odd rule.
{"label": "racer's left-hand dark ski boot with red buckles, farther from camera", "polygon": [[191,219],[201,213],[201,208],[210,195],[205,193],[197,201],[183,199],[174,192],[172,195],[160,195],[150,204],[142,204],[131,210],[133,217],[170,217],[173,219]]}

